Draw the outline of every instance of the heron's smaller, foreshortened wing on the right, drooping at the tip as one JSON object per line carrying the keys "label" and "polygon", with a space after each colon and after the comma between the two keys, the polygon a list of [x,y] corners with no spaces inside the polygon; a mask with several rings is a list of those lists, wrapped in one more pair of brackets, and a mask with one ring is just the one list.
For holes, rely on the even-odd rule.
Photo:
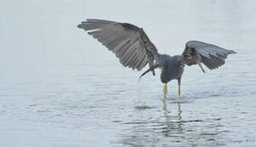
{"label": "heron's smaller, foreshortened wing on the right, drooping at the tip", "polygon": [[[189,41],[186,43],[180,61],[184,65],[199,65],[201,70],[203,63],[210,70],[214,70],[224,65],[228,54],[234,54],[233,50],[223,49],[210,43]],[[205,70],[203,70],[205,72]]]}

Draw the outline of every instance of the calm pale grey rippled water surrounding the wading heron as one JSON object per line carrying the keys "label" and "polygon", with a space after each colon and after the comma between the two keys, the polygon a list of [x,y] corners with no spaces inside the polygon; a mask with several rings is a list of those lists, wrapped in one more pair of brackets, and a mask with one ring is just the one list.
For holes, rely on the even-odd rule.
{"label": "calm pale grey rippled water surrounding the wading heron", "polygon": [[[136,4],[135,4],[136,3]],[[256,146],[256,1],[4,1],[0,146]],[[203,74],[186,67],[166,103],[157,76],[123,68],[76,28],[142,26],[158,51],[201,40],[234,49]]]}

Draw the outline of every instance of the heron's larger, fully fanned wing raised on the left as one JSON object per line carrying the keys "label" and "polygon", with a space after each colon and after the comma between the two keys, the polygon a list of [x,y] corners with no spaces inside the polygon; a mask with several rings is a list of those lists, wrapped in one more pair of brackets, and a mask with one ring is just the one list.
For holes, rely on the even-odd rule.
{"label": "heron's larger, fully fanned wing raised on the left", "polygon": [[[78,27],[89,31],[89,35],[114,52],[125,67],[128,66],[139,71],[147,63],[149,63],[149,67],[153,66],[153,61],[158,58],[155,45],[142,28],[133,24],[87,19]],[[153,71],[153,75],[155,75],[155,71]]]}

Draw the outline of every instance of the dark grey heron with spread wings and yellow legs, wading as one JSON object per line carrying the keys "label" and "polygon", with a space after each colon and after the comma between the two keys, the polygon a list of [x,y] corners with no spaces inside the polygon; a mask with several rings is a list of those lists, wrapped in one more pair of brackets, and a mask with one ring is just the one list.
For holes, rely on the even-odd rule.
{"label": "dark grey heron with spread wings and yellow legs, wading", "polygon": [[114,52],[123,66],[140,71],[148,64],[148,70],[141,77],[148,72],[155,75],[155,68],[160,68],[160,79],[164,83],[164,98],[167,97],[167,83],[174,79],[178,81],[178,95],[180,95],[180,82],[185,65],[198,65],[205,72],[201,65],[203,63],[210,70],[214,70],[224,65],[228,54],[235,53],[233,50],[223,49],[210,43],[189,41],[185,44],[182,55],[169,56],[158,53],[144,30],[133,24],[87,19],[78,27],[88,31],[89,35]]}

